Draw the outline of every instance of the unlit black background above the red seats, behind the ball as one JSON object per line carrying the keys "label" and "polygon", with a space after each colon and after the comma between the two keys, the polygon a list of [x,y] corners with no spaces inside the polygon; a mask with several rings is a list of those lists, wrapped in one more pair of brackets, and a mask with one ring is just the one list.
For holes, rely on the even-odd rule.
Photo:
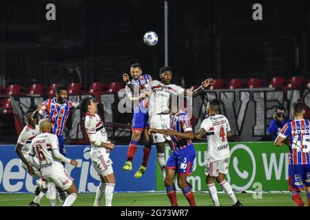
{"label": "unlit black background above the red seats, behind the ball", "polygon": [[[47,21],[45,5],[56,5]],[[262,21],[252,5],[262,4]],[[139,62],[158,78],[164,58],[162,0],[0,2],[2,86],[121,80]],[[169,65],[185,87],[206,77],[309,76],[310,1],[169,0]],[[158,44],[143,43],[145,32]],[[4,76],[4,77],[3,77]],[[182,83],[184,78],[184,83]]]}

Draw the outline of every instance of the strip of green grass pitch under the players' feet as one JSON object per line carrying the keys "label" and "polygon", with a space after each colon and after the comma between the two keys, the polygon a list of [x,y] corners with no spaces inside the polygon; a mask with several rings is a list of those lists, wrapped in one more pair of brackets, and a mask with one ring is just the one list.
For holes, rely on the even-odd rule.
{"label": "strip of green grass pitch under the players' feet", "polygon": [[[214,206],[209,193],[194,192],[197,206]],[[244,206],[295,206],[289,193],[262,193],[262,199],[254,199],[251,193],[236,193],[236,197]],[[0,206],[28,206],[34,194],[0,194]],[[74,202],[74,206],[93,206],[95,194],[81,193]],[[178,205],[188,206],[187,200],[182,193],[177,193]],[[227,195],[218,194],[220,206],[231,206],[231,200]],[[302,199],[307,204],[307,198],[302,193]],[[60,206],[56,199],[57,206]],[[101,205],[105,206],[103,197]],[[41,206],[50,206],[49,200],[43,197]],[[115,192],[112,206],[170,206],[165,192]]]}

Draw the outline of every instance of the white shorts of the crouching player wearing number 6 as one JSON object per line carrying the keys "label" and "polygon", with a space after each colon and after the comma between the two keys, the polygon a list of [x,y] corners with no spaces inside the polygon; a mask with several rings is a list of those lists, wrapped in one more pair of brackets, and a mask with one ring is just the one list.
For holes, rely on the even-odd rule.
{"label": "white shorts of the crouching player wearing number 6", "polygon": [[48,182],[53,182],[61,190],[67,190],[72,185],[74,179],[70,177],[68,171],[61,167],[41,168],[41,173],[44,179]]}

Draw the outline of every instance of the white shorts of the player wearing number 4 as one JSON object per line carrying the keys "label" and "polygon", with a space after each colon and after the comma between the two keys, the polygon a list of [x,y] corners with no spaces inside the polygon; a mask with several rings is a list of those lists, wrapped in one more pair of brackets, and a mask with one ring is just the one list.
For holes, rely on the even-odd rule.
{"label": "white shorts of the player wearing number 4", "polygon": [[210,177],[218,177],[218,173],[226,175],[229,167],[229,159],[230,157],[214,162],[205,162],[205,175],[209,175]]}

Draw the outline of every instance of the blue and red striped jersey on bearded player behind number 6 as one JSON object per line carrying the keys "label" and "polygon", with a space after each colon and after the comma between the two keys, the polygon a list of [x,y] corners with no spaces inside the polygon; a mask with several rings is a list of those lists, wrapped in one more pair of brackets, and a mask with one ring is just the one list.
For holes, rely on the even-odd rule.
{"label": "blue and red striped jersey on bearded player behind number 6", "polygon": [[41,105],[46,113],[45,118],[48,118],[52,124],[52,133],[61,135],[65,128],[68,116],[72,109],[76,108],[77,102],[66,100],[63,104],[55,102],[54,98],[45,100]]}

